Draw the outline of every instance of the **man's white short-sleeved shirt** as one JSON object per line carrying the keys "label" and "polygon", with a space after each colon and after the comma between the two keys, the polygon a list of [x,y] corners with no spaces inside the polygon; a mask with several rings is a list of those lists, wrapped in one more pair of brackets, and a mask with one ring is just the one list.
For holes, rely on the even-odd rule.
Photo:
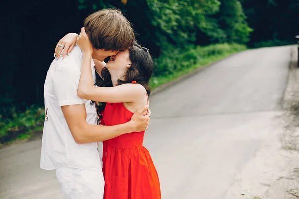
{"label": "man's white short-sleeved shirt", "polygon": [[[75,46],[70,56],[54,59],[47,72],[44,85],[46,118],[43,128],[40,167],[57,169],[74,167],[88,170],[101,170],[98,143],[77,144],[67,126],[61,106],[84,104],[86,122],[95,124],[96,108],[91,100],[81,99],[77,89],[81,74],[82,51]],[[94,62],[92,75],[95,82]]]}

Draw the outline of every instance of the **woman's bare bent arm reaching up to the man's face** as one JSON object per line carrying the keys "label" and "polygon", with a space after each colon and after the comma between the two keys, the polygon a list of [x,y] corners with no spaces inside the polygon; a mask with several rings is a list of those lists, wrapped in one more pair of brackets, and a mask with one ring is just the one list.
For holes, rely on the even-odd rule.
{"label": "woman's bare bent arm reaching up to the man's face", "polygon": [[77,44],[83,51],[81,76],[78,85],[78,96],[93,101],[110,103],[135,102],[145,95],[145,88],[139,84],[123,84],[115,87],[95,87],[91,72],[92,44],[84,28],[77,38]]}

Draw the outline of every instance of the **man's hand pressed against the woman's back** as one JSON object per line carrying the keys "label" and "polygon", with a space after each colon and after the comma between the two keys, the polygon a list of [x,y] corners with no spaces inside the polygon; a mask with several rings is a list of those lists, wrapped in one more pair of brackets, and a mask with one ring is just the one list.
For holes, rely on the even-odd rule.
{"label": "man's hand pressed against the woman's back", "polygon": [[140,110],[136,111],[134,115],[131,117],[131,123],[133,124],[133,128],[135,129],[134,132],[141,132],[145,131],[149,127],[149,120],[151,112],[146,115],[143,115],[144,112],[149,110],[149,105],[145,105]]}

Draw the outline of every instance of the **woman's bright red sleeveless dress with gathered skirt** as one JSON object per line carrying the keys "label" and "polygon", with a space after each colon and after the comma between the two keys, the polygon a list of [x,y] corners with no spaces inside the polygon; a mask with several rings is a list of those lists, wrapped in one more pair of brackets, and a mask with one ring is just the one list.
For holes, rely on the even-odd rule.
{"label": "woman's bright red sleeveless dress with gathered skirt", "polygon": [[[132,115],[123,103],[107,103],[102,124],[123,124]],[[128,133],[103,142],[104,199],[161,199],[157,171],[142,145],[144,133]]]}

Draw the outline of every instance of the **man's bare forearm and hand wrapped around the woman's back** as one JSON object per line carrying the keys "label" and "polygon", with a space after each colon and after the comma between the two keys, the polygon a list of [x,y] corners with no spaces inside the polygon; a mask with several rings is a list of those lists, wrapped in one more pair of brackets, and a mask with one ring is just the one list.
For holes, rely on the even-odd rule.
{"label": "man's bare forearm and hand wrapped around the woman's back", "polygon": [[84,104],[61,106],[67,125],[77,144],[100,142],[122,134],[146,130],[149,126],[149,118],[143,116],[142,112],[148,108],[144,106],[132,116],[131,121],[125,124],[102,126],[86,122]]}

